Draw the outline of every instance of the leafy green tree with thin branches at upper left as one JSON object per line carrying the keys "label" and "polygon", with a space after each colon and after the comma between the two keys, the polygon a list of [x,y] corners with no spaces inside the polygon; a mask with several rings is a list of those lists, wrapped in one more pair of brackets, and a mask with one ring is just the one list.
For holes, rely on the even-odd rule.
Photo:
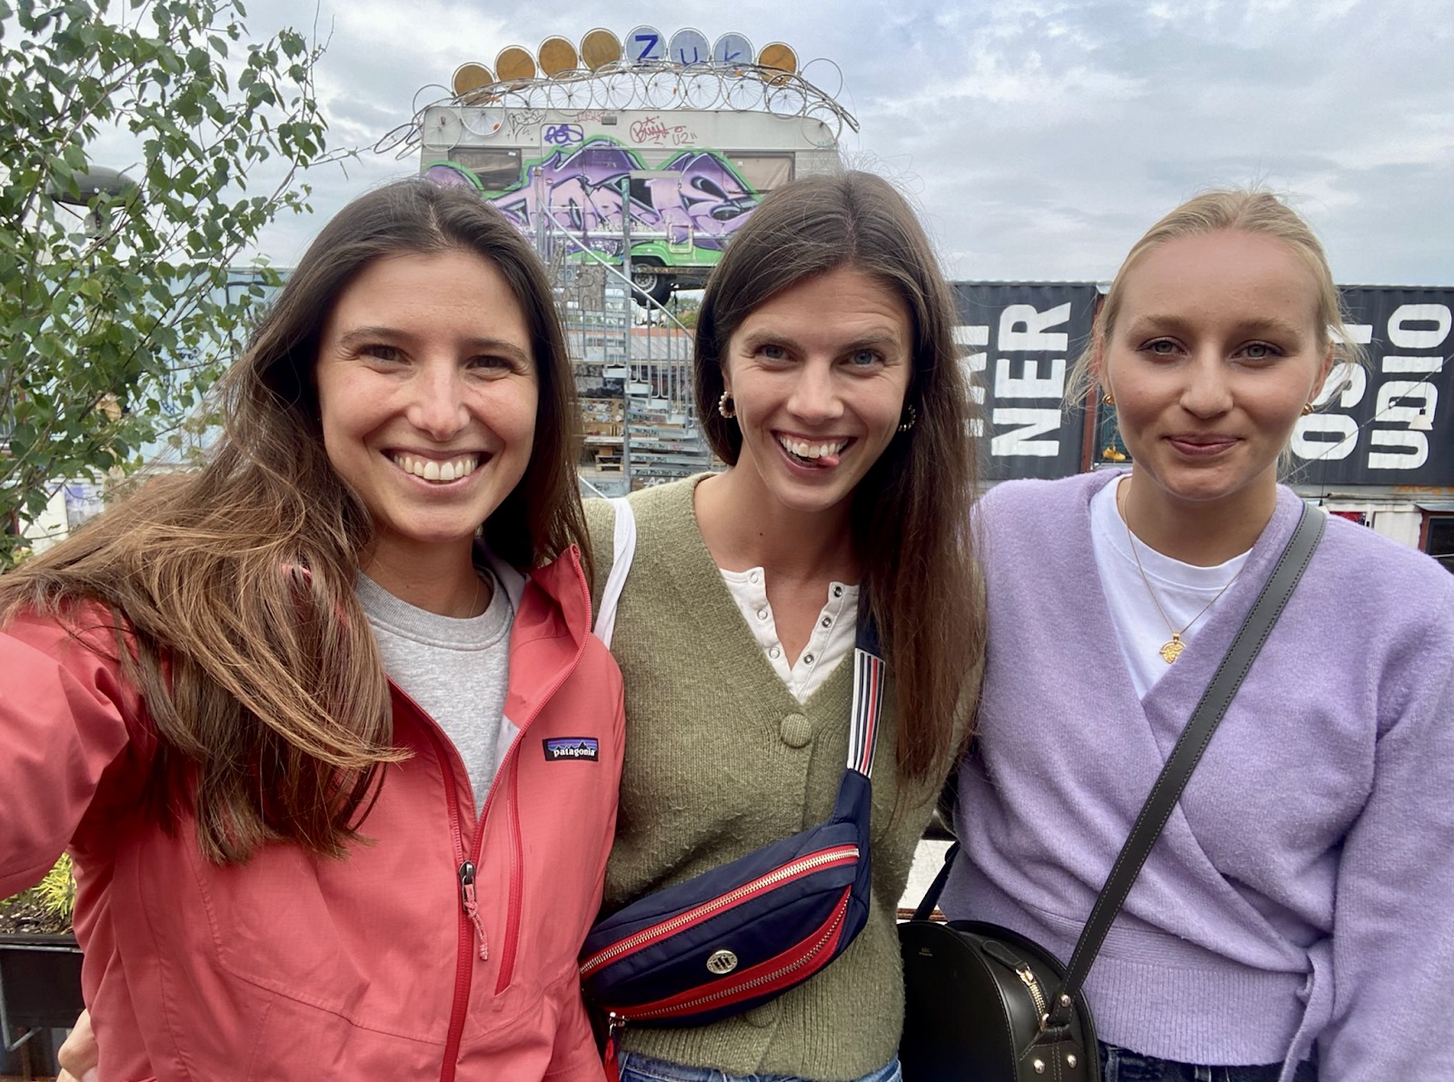
{"label": "leafy green tree with thin branches at upper left", "polygon": [[[182,438],[268,282],[233,288],[228,268],[310,209],[304,169],[346,157],[314,95],[321,47],[250,41],[244,17],[0,0],[0,525]],[[118,135],[132,182],[99,185],[93,147]],[[0,567],[19,553],[0,532]]]}

